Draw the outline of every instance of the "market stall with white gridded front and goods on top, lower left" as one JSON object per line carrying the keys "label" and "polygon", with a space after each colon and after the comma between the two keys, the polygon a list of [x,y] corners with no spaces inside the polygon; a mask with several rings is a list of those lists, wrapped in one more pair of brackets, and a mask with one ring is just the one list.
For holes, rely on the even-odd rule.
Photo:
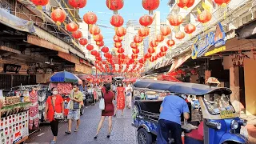
{"label": "market stall with white gridded front and goods on top, lower left", "polygon": [[24,102],[20,96],[1,98],[5,101],[0,110],[0,142],[4,144],[24,142],[29,136],[31,102]]}

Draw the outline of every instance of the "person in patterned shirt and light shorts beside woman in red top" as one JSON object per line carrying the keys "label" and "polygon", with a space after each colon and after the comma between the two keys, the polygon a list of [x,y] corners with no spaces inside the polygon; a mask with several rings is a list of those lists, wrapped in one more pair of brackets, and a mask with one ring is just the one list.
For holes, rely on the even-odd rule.
{"label": "person in patterned shirt and light shorts beside woman in red top", "polygon": [[82,92],[78,89],[78,84],[73,85],[73,90],[70,92],[70,102],[68,104],[69,114],[67,115],[67,119],[69,121],[68,130],[65,132],[66,134],[71,134],[71,126],[72,120],[77,121],[77,126],[74,132],[77,132],[80,125],[80,109],[83,106],[82,102]]}

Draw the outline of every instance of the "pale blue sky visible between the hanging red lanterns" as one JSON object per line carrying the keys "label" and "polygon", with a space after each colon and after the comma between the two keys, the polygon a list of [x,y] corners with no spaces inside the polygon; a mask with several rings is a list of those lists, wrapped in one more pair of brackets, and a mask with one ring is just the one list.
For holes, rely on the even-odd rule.
{"label": "pale blue sky visible between the hanging red lanterns", "polygon": [[[160,6],[155,10],[160,11],[161,20],[165,20],[170,11],[167,2],[169,2],[169,0],[160,0]],[[113,15],[113,11],[107,8],[106,0],[87,0],[86,6],[80,9],[80,17],[82,18],[88,11],[93,11],[98,16],[98,25],[112,28],[100,27],[105,45],[112,48],[114,43],[114,26],[111,26],[110,18]],[[138,21],[142,15],[148,14],[148,11],[142,7],[142,0],[124,0],[124,6],[121,10],[118,10],[118,14],[122,15],[122,18],[124,18],[124,26],[126,27],[126,22],[129,20]]]}

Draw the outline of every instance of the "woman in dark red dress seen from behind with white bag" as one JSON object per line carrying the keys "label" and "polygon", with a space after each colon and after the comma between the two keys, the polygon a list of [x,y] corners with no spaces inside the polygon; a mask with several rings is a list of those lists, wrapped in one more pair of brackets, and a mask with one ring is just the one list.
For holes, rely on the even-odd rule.
{"label": "woman in dark red dress seen from behind with white bag", "polygon": [[109,117],[109,132],[106,137],[110,138],[110,133],[111,133],[111,129],[112,129],[112,116],[114,115],[114,104],[112,102],[114,93],[112,91],[110,91],[110,84],[106,84],[105,90],[106,90],[106,92],[103,94],[103,98],[105,101],[105,110],[102,110],[102,118],[101,118],[100,122],[98,123],[98,129],[97,129],[94,139],[96,139],[98,137],[98,132],[99,132],[99,130],[101,130],[102,124],[106,117]]}

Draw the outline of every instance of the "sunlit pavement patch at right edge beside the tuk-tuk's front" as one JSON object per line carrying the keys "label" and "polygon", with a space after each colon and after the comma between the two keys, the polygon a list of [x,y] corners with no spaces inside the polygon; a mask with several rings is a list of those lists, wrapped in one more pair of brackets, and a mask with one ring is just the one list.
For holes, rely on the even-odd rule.
{"label": "sunlit pavement patch at right edge beside the tuk-tuk's front", "polygon": [[256,143],[256,116],[255,115],[246,115],[241,114],[240,116],[243,119],[246,119],[247,121],[247,131],[248,131],[248,137],[250,143]]}

